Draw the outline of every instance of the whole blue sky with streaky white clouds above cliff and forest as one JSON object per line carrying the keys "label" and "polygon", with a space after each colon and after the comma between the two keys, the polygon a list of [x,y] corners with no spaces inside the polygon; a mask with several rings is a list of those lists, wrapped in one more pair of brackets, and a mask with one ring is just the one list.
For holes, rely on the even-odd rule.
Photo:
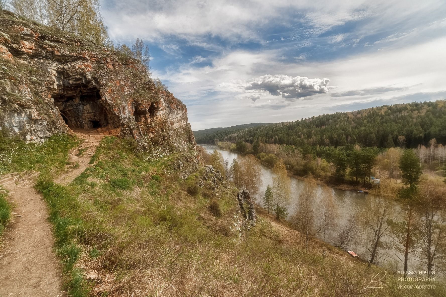
{"label": "whole blue sky with streaky white clouds above cliff and forest", "polygon": [[101,0],[192,130],[446,99],[445,0]]}

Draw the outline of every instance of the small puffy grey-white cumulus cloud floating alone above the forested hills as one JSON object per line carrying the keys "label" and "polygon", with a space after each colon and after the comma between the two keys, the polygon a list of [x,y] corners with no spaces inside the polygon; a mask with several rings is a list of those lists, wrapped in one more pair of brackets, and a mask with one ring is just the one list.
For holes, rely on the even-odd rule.
{"label": "small puffy grey-white cumulus cloud floating alone above the forested hills", "polygon": [[328,92],[328,78],[308,78],[300,76],[288,76],[283,74],[266,74],[252,78],[248,81],[239,81],[235,87],[241,90],[245,98],[252,101],[260,99],[266,92],[273,96],[281,96],[293,101],[297,98],[305,98],[315,94]]}

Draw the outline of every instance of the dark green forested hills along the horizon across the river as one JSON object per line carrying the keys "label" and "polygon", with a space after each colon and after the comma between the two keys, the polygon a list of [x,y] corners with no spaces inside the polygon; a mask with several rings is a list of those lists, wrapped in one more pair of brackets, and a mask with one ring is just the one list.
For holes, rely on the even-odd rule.
{"label": "dark green forested hills along the horizon across the river", "polygon": [[446,143],[446,101],[385,105],[249,129],[231,128],[208,129],[210,131],[194,134],[197,133],[198,143],[218,139],[298,147],[359,145],[385,148],[404,145],[416,148],[427,145],[432,138],[436,138],[437,143]]}

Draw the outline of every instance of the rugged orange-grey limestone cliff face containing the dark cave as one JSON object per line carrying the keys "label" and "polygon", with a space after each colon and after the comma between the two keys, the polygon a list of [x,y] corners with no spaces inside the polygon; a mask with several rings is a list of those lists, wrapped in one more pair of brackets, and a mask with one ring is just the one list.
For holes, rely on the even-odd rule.
{"label": "rugged orange-grey limestone cliff face containing the dark cave", "polygon": [[34,142],[79,128],[164,151],[194,145],[186,106],[138,61],[9,12],[0,12],[0,128]]}

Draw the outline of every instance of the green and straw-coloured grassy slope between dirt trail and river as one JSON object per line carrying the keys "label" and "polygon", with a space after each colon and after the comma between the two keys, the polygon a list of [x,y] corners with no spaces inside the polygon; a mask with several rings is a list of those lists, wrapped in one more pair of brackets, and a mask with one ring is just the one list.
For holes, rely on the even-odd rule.
{"label": "green and straw-coloured grassy slope between dirt trail and river", "polygon": [[[79,267],[112,274],[114,293],[134,296],[339,296],[357,293],[381,270],[336,252],[323,257],[318,244],[308,252],[299,240],[284,244],[268,216],[243,235],[234,226],[235,189],[223,183],[214,190],[210,181],[197,188],[201,171],[182,180],[173,170],[184,155],[150,160],[132,146],[104,138],[74,183],[41,179],[38,185],[51,207],[74,296],[95,285],[83,280]],[[211,201],[220,216],[210,211]],[[385,290],[363,296],[402,296],[394,277],[386,281]]]}

